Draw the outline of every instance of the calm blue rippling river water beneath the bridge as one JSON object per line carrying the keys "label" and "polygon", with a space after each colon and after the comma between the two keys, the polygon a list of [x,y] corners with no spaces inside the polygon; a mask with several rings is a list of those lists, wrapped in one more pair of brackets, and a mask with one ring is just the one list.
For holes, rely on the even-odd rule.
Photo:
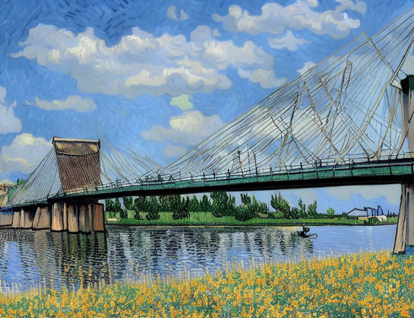
{"label": "calm blue rippling river water beneath the bridge", "polygon": [[286,261],[362,250],[391,249],[396,226],[311,227],[317,239],[303,239],[295,227],[127,228],[73,235],[31,230],[0,230],[1,286],[19,289],[123,281],[142,273],[191,275],[214,272],[228,262]]}

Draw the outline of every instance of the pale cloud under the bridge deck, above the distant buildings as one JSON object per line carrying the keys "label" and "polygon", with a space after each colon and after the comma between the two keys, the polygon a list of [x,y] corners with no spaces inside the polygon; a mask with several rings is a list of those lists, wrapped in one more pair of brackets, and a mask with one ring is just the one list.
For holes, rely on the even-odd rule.
{"label": "pale cloud under the bridge deck, above the distant buildings", "polygon": [[373,200],[383,196],[389,204],[399,205],[401,198],[401,185],[355,185],[351,187],[328,187],[327,192],[331,197],[341,201],[349,200],[352,195],[360,195],[365,200]]}

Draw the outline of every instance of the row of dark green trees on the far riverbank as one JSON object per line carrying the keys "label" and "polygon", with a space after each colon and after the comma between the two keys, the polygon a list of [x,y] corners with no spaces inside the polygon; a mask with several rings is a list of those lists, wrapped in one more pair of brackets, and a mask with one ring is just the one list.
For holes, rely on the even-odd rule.
{"label": "row of dark green trees on the far riverbank", "polygon": [[[269,211],[269,206],[254,195],[251,197],[247,193],[240,194],[241,205],[236,206],[236,198],[226,192],[211,192],[210,198],[205,194],[201,200],[196,196],[181,197],[180,195],[167,195],[159,197],[138,196],[123,197],[125,209],[121,208],[119,199],[114,201],[105,200],[105,211],[112,214],[118,213],[123,219],[127,218],[127,210],[132,211],[134,218],[141,220],[141,215],[145,215],[147,220],[158,220],[160,212],[172,213],[174,220],[190,217],[190,212],[210,212],[214,217],[234,216],[236,220],[248,221],[252,218],[272,218],[272,219],[300,219],[317,218],[320,214],[316,211],[316,201],[308,207],[299,200],[299,207],[291,207],[289,202],[279,195],[271,197],[270,204],[276,212]],[[333,209],[328,209],[328,214],[333,214]]]}

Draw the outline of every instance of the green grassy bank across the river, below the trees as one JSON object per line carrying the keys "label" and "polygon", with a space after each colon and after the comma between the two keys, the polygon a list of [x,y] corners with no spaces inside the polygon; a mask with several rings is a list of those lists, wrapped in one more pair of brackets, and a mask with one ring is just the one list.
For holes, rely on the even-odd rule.
{"label": "green grassy bank across the river, below the trees", "polygon": [[[106,221],[110,225],[127,225],[127,226],[297,226],[297,225],[364,225],[362,220],[351,220],[347,218],[334,219],[260,219],[254,218],[249,221],[238,221],[235,217],[216,218],[209,212],[190,213],[189,219],[173,220],[172,213],[160,213],[160,219],[148,221],[145,215],[141,215],[144,220],[120,219],[118,221]],[[388,218],[386,224],[396,224],[397,217]],[[384,224],[384,223],[381,223]]]}

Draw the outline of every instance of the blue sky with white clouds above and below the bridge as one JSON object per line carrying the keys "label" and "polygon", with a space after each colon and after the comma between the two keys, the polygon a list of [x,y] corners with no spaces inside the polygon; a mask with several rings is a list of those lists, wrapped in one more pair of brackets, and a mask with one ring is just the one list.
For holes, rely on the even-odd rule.
{"label": "blue sky with white clouds above and below the bridge", "polygon": [[[0,180],[26,177],[53,136],[98,139],[99,129],[111,144],[170,163],[298,70],[363,31],[375,34],[413,4],[2,1]],[[337,212],[398,210],[400,187],[283,193]],[[270,192],[257,196],[268,201]]]}

